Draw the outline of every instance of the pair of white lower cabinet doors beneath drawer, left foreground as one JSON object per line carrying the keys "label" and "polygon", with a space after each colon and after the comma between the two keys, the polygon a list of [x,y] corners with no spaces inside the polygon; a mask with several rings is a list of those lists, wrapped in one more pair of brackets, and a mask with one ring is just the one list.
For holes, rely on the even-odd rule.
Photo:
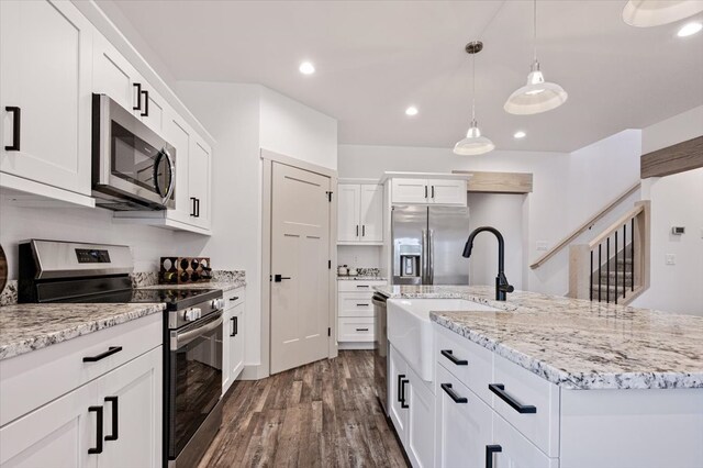
{"label": "pair of white lower cabinet doors beneath drawer, left foreground", "polygon": [[158,346],[2,426],[0,467],[159,468],[163,358]]}

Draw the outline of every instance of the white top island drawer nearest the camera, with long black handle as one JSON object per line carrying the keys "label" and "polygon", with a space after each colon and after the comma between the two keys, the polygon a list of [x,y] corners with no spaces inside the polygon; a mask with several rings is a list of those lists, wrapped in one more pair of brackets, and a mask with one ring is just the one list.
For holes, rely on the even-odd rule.
{"label": "white top island drawer nearest the camera, with long black handle", "polygon": [[[559,456],[559,388],[495,356],[493,409],[550,457]],[[525,406],[534,406],[533,409]]]}

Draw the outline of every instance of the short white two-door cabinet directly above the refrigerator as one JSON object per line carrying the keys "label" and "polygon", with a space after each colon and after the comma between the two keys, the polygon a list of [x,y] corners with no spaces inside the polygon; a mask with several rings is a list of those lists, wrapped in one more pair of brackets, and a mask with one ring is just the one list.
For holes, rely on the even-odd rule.
{"label": "short white two-door cabinet directly above the refrigerator", "polygon": [[450,204],[466,207],[464,179],[391,179],[393,204]]}

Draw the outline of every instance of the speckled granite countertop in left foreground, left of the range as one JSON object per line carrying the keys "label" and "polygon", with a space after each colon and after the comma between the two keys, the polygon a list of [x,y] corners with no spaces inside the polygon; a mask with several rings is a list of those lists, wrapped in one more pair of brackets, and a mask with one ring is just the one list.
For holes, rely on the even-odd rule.
{"label": "speckled granite countertop in left foreground, left of the range", "polygon": [[165,304],[16,304],[0,308],[0,360],[153,313]]}

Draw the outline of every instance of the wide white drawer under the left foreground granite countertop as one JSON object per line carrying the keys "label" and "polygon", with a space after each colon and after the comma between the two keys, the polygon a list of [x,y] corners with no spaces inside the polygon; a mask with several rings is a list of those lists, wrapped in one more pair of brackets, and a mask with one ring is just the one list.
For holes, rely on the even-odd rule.
{"label": "wide white drawer under the left foreground granite countertop", "polygon": [[[0,426],[160,346],[163,313],[0,360]],[[111,346],[122,350],[94,363]]]}

